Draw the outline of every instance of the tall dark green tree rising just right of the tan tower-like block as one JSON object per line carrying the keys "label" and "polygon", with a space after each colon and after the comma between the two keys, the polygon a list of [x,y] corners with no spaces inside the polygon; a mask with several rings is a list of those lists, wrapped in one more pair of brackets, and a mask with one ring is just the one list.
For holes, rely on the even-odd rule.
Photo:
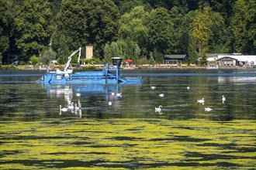
{"label": "tall dark green tree rising just right of the tan tower-like block", "polygon": [[118,33],[119,10],[112,0],[88,0],[88,43],[95,56],[103,57],[106,43],[115,41]]}

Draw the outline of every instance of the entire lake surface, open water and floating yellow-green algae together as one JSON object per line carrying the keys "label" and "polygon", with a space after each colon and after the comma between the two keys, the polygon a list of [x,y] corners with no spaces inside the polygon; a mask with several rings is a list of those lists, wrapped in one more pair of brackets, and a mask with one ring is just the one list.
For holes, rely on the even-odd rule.
{"label": "entire lake surface, open water and floating yellow-green algae together", "polygon": [[255,69],[122,73],[144,83],[51,85],[0,70],[0,168],[256,168]]}

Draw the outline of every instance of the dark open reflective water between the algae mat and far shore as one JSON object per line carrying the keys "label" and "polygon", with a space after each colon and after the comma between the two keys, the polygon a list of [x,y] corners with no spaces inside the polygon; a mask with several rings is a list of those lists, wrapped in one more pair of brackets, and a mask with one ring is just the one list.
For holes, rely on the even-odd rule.
{"label": "dark open reflective water between the algae mat and far shore", "polygon": [[[38,120],[49,117],[159,117],[189,120],[205,117],[225,121],[255,117],[255,70],[134,71],[144,73],[143,84],[37,84],[30,80],[36,80],[38,73],[34,78],[33,74],[28,75],[27,72],[24,73],[25,76],[22,76],[22,72],[3,73],[0,76],[1,118]],[[229,76],[230,74],[235,76]],[[17,81],[23,83],[16,83]],[[77,93],[81,96],[77,97]],[[118,93],[122,93],[122,97],[118,97]],[[226,100],[222,100],[222,96]],[[81,106],[78,105],[78,98]],[[202,98],[205,100],[204,105],[197,103]],[[75,104],[78,107],[76,111],[68,110],[59,115],[60,105],[66,108],[71,105],[75,107]],[[155,107],[159,105],[163,106],[161,114],[155,112]],[[206,107],[213,110],[205,111]]]}

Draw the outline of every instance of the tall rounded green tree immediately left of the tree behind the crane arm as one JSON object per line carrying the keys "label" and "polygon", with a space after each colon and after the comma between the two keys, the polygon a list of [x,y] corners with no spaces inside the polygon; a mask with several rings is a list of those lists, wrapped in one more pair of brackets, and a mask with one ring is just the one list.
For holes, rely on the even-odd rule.
{"label": "tall rounded green tree immediately left of the tree behind the crane arm", "polygon": [[43,0],[27,0],[20,6],[16,21],[16,46],[22,59],[38,55],[50,42],[50,4]]}

